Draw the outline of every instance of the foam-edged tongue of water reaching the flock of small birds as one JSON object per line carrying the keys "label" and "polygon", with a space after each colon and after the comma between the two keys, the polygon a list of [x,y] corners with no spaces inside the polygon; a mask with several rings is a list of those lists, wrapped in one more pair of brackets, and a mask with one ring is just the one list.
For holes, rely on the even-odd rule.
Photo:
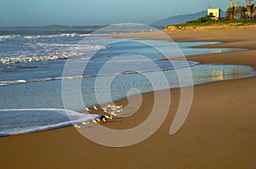
{"label": "foam-edged tongue of water reaching the flock of small birds", "polygon": [[68,127],[100,116],[61,109],[0,110],[0,114],[4,119],[0,121],[0,137]]}

